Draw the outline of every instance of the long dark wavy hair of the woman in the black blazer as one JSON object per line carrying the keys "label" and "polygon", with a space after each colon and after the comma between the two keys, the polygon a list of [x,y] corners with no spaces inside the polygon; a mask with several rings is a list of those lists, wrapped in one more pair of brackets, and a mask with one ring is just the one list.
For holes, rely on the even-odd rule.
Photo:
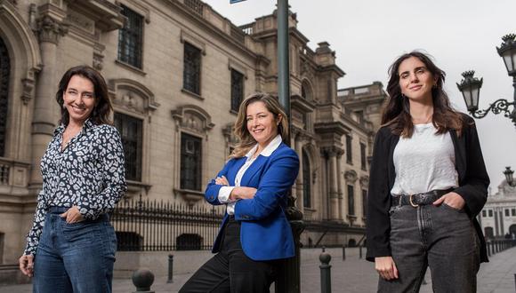
{"label": "long dark wavy hair of the woman in the black blazer", "polygon": [[443,90],[446,73],[437,67],[429,56],[421,51],[411,51],[399,56],[391,67],[389,67],[389,83],[387,92],[389,99],[383,108],[382,124],[389,126],[391,131],[399,136],[410,138],[414,133],[414,123],[410,115],[410,105],[407,97],[401,94],[399,87],[399,65],[406,59],[415,57],[420,59],[431,75],[437,77],[436,85],[431,89],[431,99],[433,102],[433,115],[431,122],[437,128],[437,133],[445,133],[450,129],[457,131],[460,136],[464,128],[464,118],[459,112],[450,106],[447,93]]}

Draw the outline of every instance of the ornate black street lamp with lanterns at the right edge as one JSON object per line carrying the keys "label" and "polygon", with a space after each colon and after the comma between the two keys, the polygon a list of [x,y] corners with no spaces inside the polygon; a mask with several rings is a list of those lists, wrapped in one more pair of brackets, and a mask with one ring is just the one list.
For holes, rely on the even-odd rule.
{"label": "ornate black street lamp with lanterns at the right edge", "polygon": [[[504,116],[510,118],[514,126],[516,126],[516,35],[509,34],[502,37],[504,43],[496,48],[498,55],[504,59],[507,74],[512,76],[512,87],[514,87],[513,101],[507,99],[497,99],[493,104],[485,110],[479,110],[480,87],[482,86],[482,78],[480,80],[474,77],[474,71],[465,71],[462,75],[464,79],[461,83],[457,83],[459,91],[463,93],[464,102],[468,108],[468,112],[475,118],[483,118],[488,115],[489,111],[494,114],[504,113]],[[512,107],[512,111],[509,109]]]}

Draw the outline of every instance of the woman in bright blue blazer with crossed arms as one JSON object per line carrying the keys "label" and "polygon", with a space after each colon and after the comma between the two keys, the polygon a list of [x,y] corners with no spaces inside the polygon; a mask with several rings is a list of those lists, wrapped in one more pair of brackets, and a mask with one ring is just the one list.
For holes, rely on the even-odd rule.
{"label": "woman in bright blue blazer with crossed arms", "polygon": [[235,123],[239,145],[206,187],[206,201],[226,205],[214,257],[180,292],[269,292],[278,259],[294,257],[285,209],[299,171],[282,142],[288,121],[278,99],[256,93],[242,102]]}

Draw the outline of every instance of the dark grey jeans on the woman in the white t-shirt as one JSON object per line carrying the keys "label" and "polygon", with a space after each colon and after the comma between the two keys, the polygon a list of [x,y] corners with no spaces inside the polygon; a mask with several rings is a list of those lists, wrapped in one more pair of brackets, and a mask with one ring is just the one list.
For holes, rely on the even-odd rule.
{"label": "dark grey jeans on the woman in the white t-shirt", "polygon": [[404,205],[391,207],[390,214],[391,253],[399,279],[380,277],[378,292],[418,292],[427,267],[434,292],[476,292],[480,241],[464,210],[445,203]]}

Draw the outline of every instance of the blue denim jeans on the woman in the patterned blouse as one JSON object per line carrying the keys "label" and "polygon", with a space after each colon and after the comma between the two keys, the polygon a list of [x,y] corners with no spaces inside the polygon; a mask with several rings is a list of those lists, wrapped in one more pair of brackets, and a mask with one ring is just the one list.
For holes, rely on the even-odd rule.
{"label": "blue denim jeans on the woman in the patterned blouse", "polygon": [[35,293],[110,293],[117,237],[109,216],[68,224],[51,208],[34,263]]}

